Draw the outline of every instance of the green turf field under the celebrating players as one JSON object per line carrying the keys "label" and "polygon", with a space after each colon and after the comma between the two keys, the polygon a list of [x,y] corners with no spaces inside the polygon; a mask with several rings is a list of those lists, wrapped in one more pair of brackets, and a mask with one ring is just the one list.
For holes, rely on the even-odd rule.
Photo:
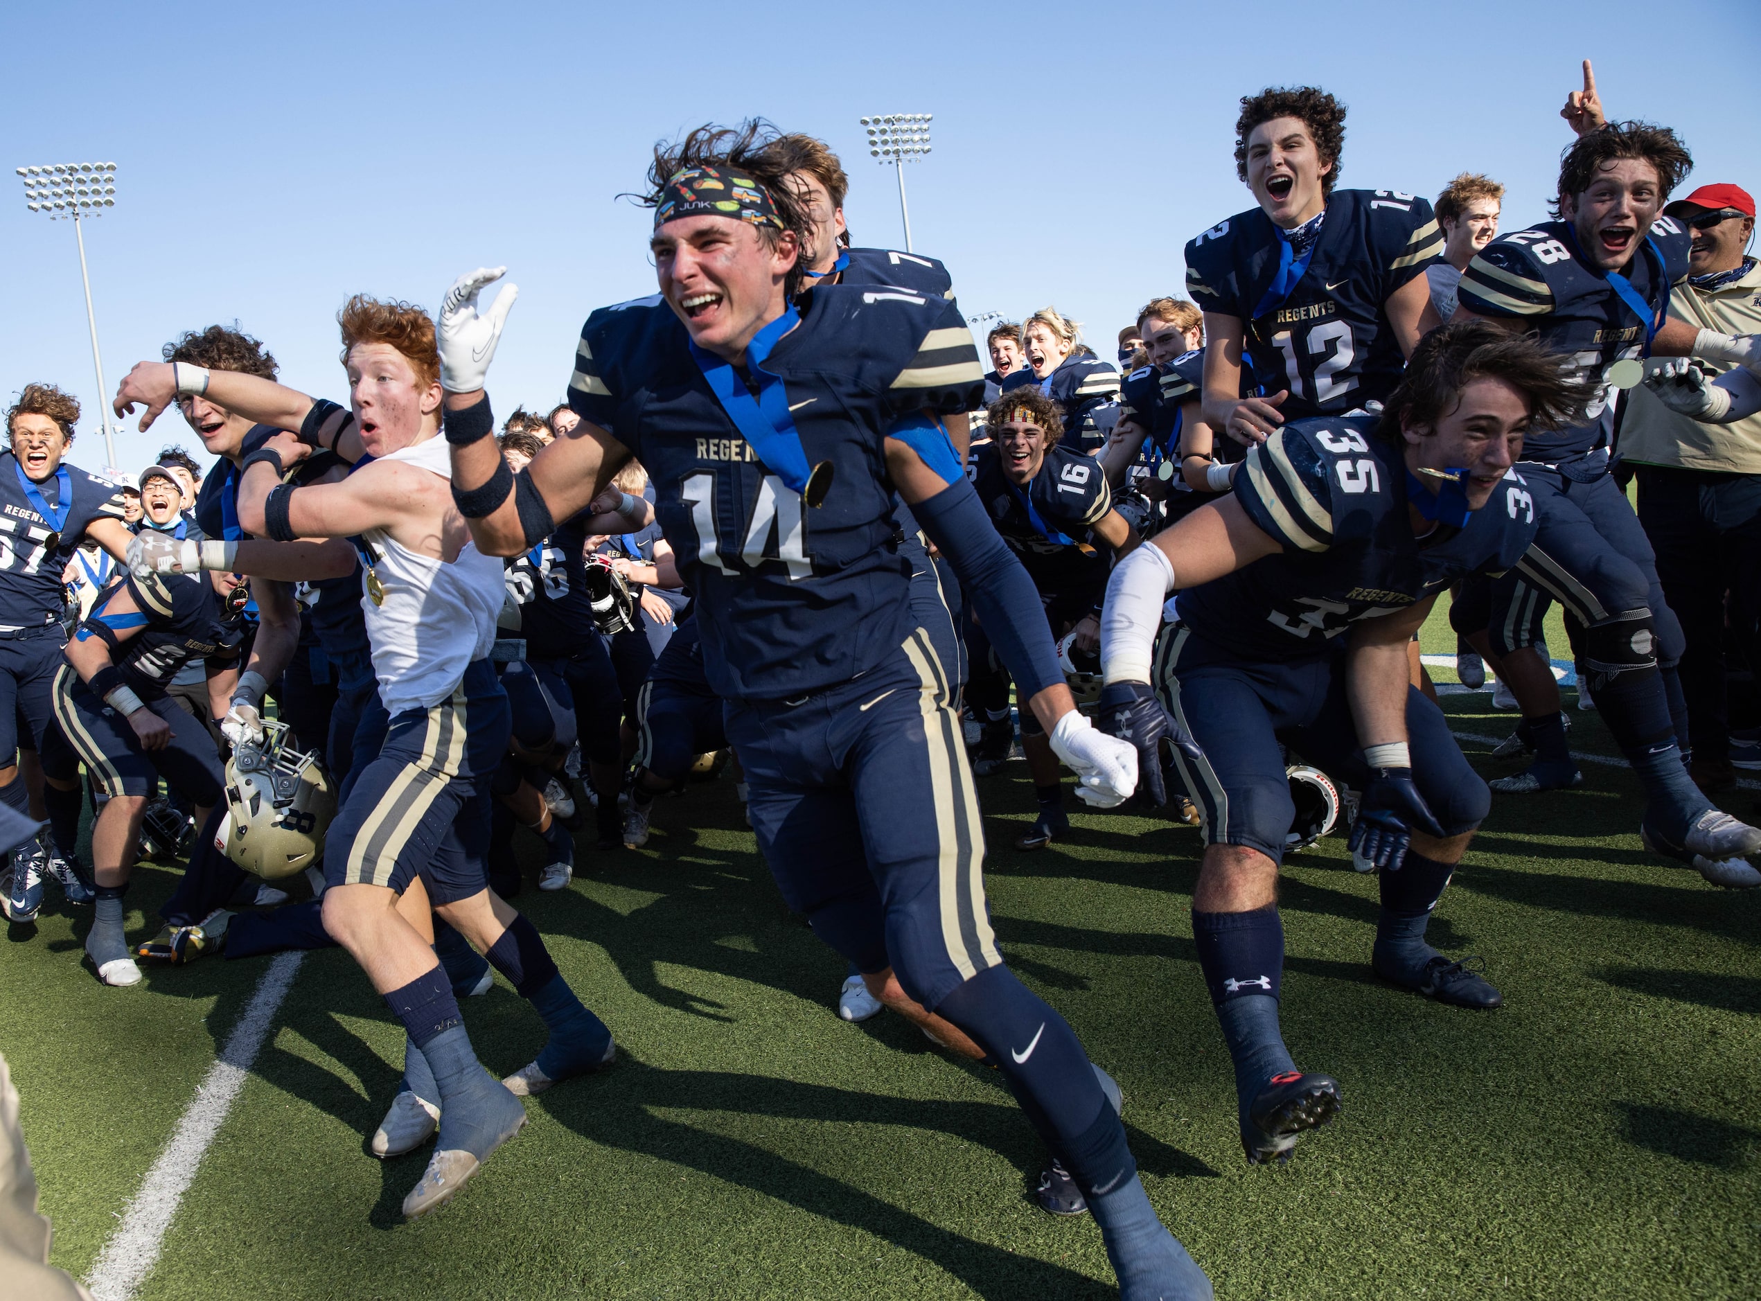
{"label": "green turf field under the celebrating players", "polygon": [[[1437,625],[1426,643],[1453,650]],[[1446,706],[1504,736],[1488,701]],[[1611,753],[1573,720],[1576,750]],[[1150,1197],[1220,1297],[1761,1294],[1761,891],[1647,856],[1624,769],[1499,799],[1444,898],[1432,938],[1486,956],[1500,1012],[1377,984],[1375,882],[1337,838],[1293,861],[1286,1037],[1345,1113],[1284,1169],[1249,1169],[1234,1137],[1190,944],[1197,833],[1078,815],[1069,843],[1016,854],[1025,766],[981,798],[1002,947],[1124,1084]],[[518,900],[616,1032],[615,1070],[532,1099],[521,1137],[405,1225],[426,1157],[365,1151],[402,1032],[347,956],[312,954],[139,1296],[1115,1294],[1094,1224],[1027,1199],[1043,1151],[993,1072],[889,1014],[836,1019],[842,965],[778,901],[733,783],[662,801],[655,826],[648,850],[585,852],[569,891]],[[130,938],[171,884],[139,873]],[[55,1262],[85,1275],[268,961],[106,989],[77,961],[85,912],[51,898],[0,945],[0,1051]],[[465,1016],[497,1072],[541,1042],[502,984]]]}

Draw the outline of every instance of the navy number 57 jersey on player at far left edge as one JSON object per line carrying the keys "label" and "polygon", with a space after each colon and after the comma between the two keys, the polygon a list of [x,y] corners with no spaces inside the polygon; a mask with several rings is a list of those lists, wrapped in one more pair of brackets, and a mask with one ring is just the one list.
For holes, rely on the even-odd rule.
{"label": "navy number 57 jersey on player at far left edge", "polygon": [[[51,474],[33,484],[53,514],[65,507],[56,530],[53,519],[30,500],[19,482],[21,468],[11,451],[0,452],[0,627],[41,628],[60,623],[67,611],[62,572],[79,549],[79,539],[93,519],[122,519],[123,503],[116,484],[62,461],[67,470],[70,502],[62,502],[62,481]],[[56,535],[58,533],[58,535]]]}

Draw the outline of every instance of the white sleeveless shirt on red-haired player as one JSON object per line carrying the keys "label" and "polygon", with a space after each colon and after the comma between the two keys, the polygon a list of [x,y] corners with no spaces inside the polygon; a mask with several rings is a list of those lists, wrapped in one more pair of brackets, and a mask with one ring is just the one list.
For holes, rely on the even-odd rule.
{"label": "white sleeveless shirt on red-haired player", "polygon": [[[379,459],[453,479],[453,458],[438,433]],[[502,562],[483,555],[475,542],[467,542],[458,560],[447,563],[410,551],[382,528],[370,528],[361,539],[379,556],[361,576],[379,695],[393,717],[430,709],[453,695],[465,667],[488,657],[495,644],[495,618],[505,597]],[[379,604],[368,576],[384,593]]]}

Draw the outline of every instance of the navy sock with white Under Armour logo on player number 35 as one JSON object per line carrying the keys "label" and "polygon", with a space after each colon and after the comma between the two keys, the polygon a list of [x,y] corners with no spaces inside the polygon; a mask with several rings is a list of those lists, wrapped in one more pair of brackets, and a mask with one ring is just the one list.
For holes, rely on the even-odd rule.
{"label": "navy sock with white Under Armour logo on player number 35", "polygon": [[1278,905],[1252,912],[1192,914],[1192,944],[1210,988],[1229,1058],[1242,1127],[1266,1081],[1294,1070],[1278,1033],[1278,988],[1284,979],[1284,922]]}

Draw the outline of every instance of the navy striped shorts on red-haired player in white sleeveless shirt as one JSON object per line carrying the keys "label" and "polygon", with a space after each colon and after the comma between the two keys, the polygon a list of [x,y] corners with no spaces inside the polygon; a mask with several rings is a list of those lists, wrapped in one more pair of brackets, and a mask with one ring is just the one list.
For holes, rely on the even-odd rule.
{"label": "navy striped shorts on red-haired player in white sleeveless shirt", "polygon": [[324,838],[326,882],[402,894],[421,877],[433,903],[486,889],[490,778],[509,734],[490,660],[474,660],[440,704],[393,717]]}

